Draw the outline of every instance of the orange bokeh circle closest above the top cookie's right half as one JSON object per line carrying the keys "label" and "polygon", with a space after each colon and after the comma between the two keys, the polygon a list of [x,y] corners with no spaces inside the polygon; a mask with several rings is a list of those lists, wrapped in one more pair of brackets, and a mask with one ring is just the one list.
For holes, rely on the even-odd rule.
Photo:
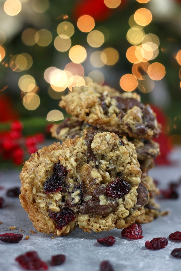
{"label": "orange bokeh circle closest above the top cookie's right half", "polygon": [[119,84],[123,90],[133,91],[134,89],[137,88],[138,81],[133,74],[127,73],[121,77]]}

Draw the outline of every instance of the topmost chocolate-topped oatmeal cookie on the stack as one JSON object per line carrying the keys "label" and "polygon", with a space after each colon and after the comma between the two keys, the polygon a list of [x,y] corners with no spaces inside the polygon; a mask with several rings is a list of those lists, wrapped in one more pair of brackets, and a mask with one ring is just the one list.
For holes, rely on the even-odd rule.
{"label": "topmost chocolate-topped oatmeal cookie on the stack", "polygon": [[74,87],[59,106],[78,120],[119,136],[149,139],[160,131],[151,107],[142,104],[136,92],[120,93],[109,86]]}

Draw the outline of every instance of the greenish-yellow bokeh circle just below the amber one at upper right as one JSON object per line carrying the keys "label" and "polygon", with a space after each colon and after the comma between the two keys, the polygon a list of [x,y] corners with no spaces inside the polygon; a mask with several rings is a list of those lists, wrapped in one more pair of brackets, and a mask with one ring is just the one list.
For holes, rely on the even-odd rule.
{"label": "greenish-yellow bokeh circle just below the amber one at upper right", "polygon": [[144,37],[144,30],[140,26],[133,26],[127,32],[126,38],[129,43],[137,45]]}

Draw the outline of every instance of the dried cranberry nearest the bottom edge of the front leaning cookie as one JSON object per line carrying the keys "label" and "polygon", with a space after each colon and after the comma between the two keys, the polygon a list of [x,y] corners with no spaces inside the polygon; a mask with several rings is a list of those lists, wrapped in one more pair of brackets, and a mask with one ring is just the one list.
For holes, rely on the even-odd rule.
{"label": "dried cranberry nearest the bottom edge of the front leaning cookie", "polygon": [[50,212],[49,216],[56,222],[56,229],[61,230],[63,226],[67,225],[75,219],[75,213],[69,208],[63,208],[59,213]]}

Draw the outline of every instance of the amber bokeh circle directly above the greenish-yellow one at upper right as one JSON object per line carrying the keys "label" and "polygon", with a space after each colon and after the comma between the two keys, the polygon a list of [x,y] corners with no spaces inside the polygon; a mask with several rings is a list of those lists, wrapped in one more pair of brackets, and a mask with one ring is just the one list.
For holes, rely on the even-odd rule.
{"label": "amber bokeh circle directly above the greenish-yellow one at upper right", "polygon": [[152,20],[151,11],[149,11],[147,8],[140,8],[135,12],[134,19],[139,25],[148,25]]}

